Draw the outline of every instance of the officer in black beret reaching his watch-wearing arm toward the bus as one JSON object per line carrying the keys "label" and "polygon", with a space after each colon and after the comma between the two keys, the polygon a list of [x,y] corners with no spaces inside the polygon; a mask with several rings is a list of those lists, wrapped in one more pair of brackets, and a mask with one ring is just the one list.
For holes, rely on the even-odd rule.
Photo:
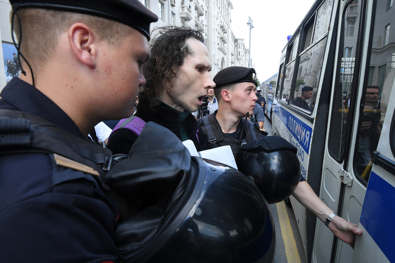
{"label": "officer in black beret reaching his watch-wearing arm toward the bus", "polygon": [[[252,112],[257,99],[255,70],[228,67],[218,72],[213,80],[216,84],[214,94],[218,99],[218,110],[199,119],[199,125],[209,136],[209,148],[230,145],[233,155],[236,156],[242,143],[267,135],[261,133],[254,123],[242,118],[246,112]],[[244,123],[246,125],[243,129]],[[293,196],[324,222],[336,237],[354,247],[355,236],[362,233],[357,224],[333,213],[314,193],[302,175]]]}

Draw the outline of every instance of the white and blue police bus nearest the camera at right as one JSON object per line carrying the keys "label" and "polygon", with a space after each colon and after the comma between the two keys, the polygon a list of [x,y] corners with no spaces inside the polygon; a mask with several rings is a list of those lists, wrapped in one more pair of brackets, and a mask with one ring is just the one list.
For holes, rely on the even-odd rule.
{"label": "white and blue police bus nearest the camera at right", "polygon": [[272,134],[297,147],[318,196],[363,230],[352,250],[291,197],[308,262],[395,262],[393,27],[393,0],[317,0],[282,51]]}

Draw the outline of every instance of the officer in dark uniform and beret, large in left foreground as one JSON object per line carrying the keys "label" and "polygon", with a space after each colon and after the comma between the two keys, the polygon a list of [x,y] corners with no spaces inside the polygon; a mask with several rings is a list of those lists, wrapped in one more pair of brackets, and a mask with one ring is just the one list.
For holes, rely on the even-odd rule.
{"label": "officer in dark uniform and beret, large in left foreground", "polygon": [[2,262],[115,262],[119,213],[86,140],[133,114],[157,16],[138,0],[11,0],[22,74],[0,97]]}

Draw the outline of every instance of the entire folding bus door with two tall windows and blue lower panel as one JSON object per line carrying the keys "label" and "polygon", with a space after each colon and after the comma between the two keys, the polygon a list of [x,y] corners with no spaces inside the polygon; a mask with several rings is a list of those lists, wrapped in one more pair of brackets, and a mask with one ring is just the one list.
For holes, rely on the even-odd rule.
{"label": "entire folding bus door with two tall windows and blue lower panel", "polygon": [[[391,172],[374,163],[380,163],[382,158],[388,170],[393,166],[388,142],[394,108],[389,96],[395,76],[395,38],[389,35],[389,26],[395,22],[395,9],[387,0],[354,0],[345,4],[320,194],[342,218],[359,222],[363,237],[357,238],[355,251],[334,238],[330,260],[318,259],[324,251],[323,234],[329,230],[318,222],[314,252],[316,262],[389,262],[395,255],[391,253],[393,242],[387,228],[392,224],[384,222],[390,222],[394,211],[395,182]],[[357,15],[352,32],[350,18],[355,17],[354,12]],[[356,32],[358,35],[352,39]],[[391,116],[386,117],[387,111]],[[383,200],[384,204],[380,203]],[[394,259],[392,256],[390,261]]]}

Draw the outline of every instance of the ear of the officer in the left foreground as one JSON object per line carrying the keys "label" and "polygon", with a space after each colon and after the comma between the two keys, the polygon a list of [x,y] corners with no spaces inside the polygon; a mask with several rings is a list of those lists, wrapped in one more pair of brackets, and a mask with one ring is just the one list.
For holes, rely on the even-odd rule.
{"label": "ear of the officer in the left foreground", "polygon": [[74,23],[68,30],[68,39],[75,58],[91,69],[96,67],[98,35],[84,23]]}

